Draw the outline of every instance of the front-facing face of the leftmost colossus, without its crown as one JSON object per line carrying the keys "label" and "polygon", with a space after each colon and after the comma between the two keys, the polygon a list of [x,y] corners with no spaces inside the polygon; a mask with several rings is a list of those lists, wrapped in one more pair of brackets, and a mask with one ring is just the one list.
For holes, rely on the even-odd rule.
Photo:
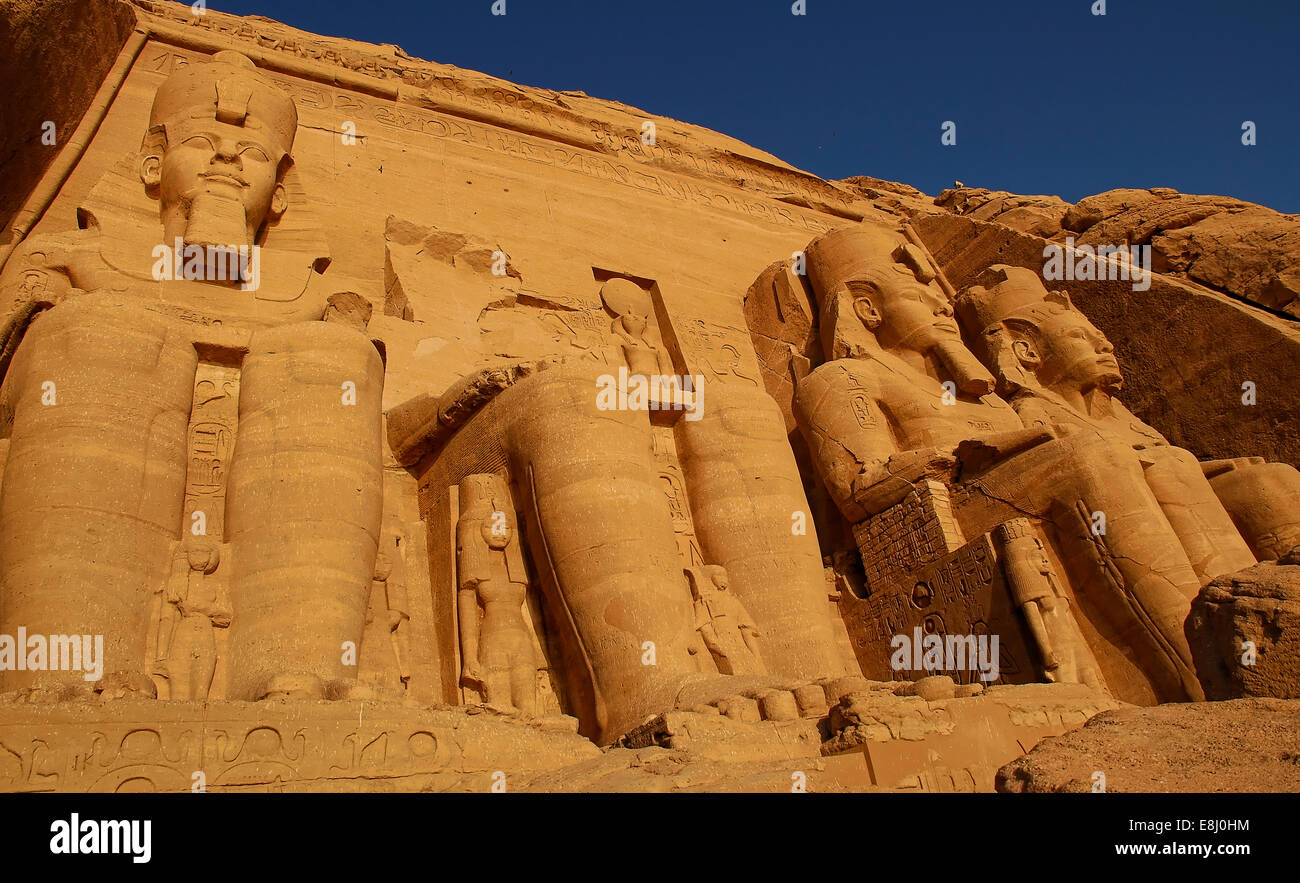
{"label": "front-facing face of the leftmost colossus, without its crown", "polygon": [[[277,181],[283,150],[256,126],[237,126],[212,117],[166,124],[166,150],[156,169],[164,208],[221,207],[243,220],[251,241],[263,222],[285,211],[285,189]],[[148,174],[148,168],[146,169]]]}

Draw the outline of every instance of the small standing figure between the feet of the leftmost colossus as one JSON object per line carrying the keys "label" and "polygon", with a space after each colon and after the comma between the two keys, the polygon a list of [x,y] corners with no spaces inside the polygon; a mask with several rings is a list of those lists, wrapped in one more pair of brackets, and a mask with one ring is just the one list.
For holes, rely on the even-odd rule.
{"label": "small standing figure between the feet of the leftmost colossus", "polygon": [[166,683],[160,698],[208,698],[217,670],[213,629],[229,628],[233,615],[216,576],[220,563],[221,549],[204,537],[186,537],[172,555],[153,662],[153,672]]}

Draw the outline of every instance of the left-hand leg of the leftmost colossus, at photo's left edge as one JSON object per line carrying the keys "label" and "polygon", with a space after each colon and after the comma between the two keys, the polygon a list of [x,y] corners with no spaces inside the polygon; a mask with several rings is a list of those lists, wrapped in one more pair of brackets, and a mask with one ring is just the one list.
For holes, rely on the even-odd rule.
{"label": "left-hand leg of the leftmost colossus, at photo's left edge", "polygon": [[[103,635],[105,678],[147,694],[196,365],[183,326],[90,294],[36,317],[4,381],[0,633]],[[0,672],[5,691],[56,684],[91,687],[81,671]]]}

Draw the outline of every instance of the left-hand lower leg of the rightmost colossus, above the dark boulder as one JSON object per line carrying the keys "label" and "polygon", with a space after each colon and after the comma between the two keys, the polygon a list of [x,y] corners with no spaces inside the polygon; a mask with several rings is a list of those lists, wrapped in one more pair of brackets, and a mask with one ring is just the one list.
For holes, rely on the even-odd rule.
{"label": "left-hand lower leg of the rightmost colossus, above the dark boulder", "polygon": [[1147,484],[1201,583],[1256,563],[1191,451],[1152,447],[1139,451],[1138,458],[1150,463]]}

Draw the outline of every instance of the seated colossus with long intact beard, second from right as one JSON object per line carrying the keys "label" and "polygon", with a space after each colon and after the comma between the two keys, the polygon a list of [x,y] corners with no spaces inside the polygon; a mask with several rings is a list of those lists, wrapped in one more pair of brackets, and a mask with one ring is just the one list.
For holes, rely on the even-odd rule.
{"label": "seated colossus with long intact beard, second from right", "polygon": [[918,490],[941,493],[968,537],[1028,516],[1096,631],[1112,691],[1144,704],[1202,698],[1183,633],[1201,580],[1131,446],[1027,427],[900,231],[835,230],[806,259],[828,362],[800,381],[794,414],[864,559],[874,549],[861,528]]}

